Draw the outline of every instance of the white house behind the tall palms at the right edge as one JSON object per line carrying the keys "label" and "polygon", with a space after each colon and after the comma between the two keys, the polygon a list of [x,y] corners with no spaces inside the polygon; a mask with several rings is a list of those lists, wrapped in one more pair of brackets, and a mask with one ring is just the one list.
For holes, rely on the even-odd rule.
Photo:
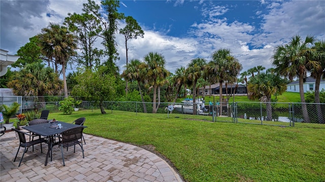
{"label": "white house behind the tall palms at the right edge", "polygon": [[[316,79],[314,79],[312,77],[306,78],[306,82],[304,82],[304,93],[306,93],[308,90],[310,90],[310,91],[315,90],[315,81],[316,81]],[[320,80],[319,91],[321,91],[321,89],[325,90],[325,78],[322,78]],[[286,91],[287,92],[299,92],[299,80],[287,84]]]}

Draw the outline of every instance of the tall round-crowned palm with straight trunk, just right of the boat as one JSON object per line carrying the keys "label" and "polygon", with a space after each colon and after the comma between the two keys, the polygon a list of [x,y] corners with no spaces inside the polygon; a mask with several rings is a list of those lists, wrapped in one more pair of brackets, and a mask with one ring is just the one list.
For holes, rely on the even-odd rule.
{"label": "tall round-crowned palm with straight trunk, just right of the boat", "polygon": [[231,54],[229,49],[219,49],[212,53],[212,60],[209,62],[207,69],[209,74],[214,77],[214,80],[219,81],[219,102],[222,108],[222,84],[223,82],[234,83],[242,69],[242,65]]}

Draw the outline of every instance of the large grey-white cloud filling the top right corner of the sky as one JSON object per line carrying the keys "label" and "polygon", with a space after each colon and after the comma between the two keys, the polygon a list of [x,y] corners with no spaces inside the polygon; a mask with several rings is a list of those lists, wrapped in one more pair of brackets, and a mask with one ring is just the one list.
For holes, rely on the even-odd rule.
{"label": "large grey-white cloud filling the top right corner of the sky", "polygon": [[288,41],[293,35],[325,35],[325,4],[323,1],[290,1],[281,6],[271,6],[264,16],[262,29],[269,41]]}

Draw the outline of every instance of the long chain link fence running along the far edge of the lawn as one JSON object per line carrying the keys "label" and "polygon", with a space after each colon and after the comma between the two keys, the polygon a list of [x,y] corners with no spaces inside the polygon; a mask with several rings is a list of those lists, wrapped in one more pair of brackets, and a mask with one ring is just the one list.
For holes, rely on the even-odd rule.
{"label": "long chain link fence running along the far edge of the lawn", "polygon": [[[21,104],[19,112],[50,110],[59,111],[59,101],[63,96],[45,97],[45,102],[36,102],[34,97],[2,97],[1,104],[11,104],[17,101]],[[10,103],[9,103],[10,102]],[[181,107],[181,110],[168,110],[168,106]],[[156,103],[158,105],[158,103]],[[193,103],[196,107],[196,103]],[[98,109],[99,105],[92,101],[83,101],[83,109]],[[135,113],[152,113],[152,102],[123,102],[105,101],[106,112],[127,111]],[[193,114],[193,109],[187,110],[184,103],[160,102],[156,113]],[[324,103],[292,103],[292,102],[215,102],[204,105],[204,112],[197,107],[196,115],[203,115],[206,120],[225,121],[234,123],[252,123],[278,126],[295,126],[295,123],[320,123],[325,124]],[[305,109],[304,109],[305,108]]]}

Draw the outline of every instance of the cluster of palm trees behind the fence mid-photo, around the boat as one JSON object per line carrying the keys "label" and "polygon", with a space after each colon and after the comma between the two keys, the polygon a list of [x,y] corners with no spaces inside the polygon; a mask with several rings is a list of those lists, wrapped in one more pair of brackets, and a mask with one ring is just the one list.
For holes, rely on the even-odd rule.
{"label": "cluster of palm trees behind the fence mid-photo, around the boat", "polygon": [[[165,68],[165,58],[158,53],[150,52],[144,57],[144,62],[138,59],[131,60],[127,68],[123,71],[122,77],[130,82],[137,81],[142,101],[144,102],[141,86],[153,89],[153,113],[156,113],[160,102],[160,86],[173,82],[171,93],[175,94],[174,102],[178,98],[181,89],[193,88],[193,103],[196,102],[198,86],[205,86],[207,80],[211,83],[219,82],[236,83],[242,65],[231,54],[229,49],[219,49],[212,54],[212,60],[207,62],[204,58],[192,59],[187,68],[181,66],[176,69],[175,75],[168,81],[170,72]],[[184,86],[184,87],[183,87]],[[186,92],[186,91],[185,91]],[[222,87],[220,89],[222,94]],[[156,100],[156,97],[158,99]],[[222,98],[222,96],[220,96]],[[156,102],[158,104],[156,105]],[[144,104],[145,108],[145,104]],[[145,110],[146,111],[146,110]],[[193,105],[193,114],[196,114],[196,106]]]}

